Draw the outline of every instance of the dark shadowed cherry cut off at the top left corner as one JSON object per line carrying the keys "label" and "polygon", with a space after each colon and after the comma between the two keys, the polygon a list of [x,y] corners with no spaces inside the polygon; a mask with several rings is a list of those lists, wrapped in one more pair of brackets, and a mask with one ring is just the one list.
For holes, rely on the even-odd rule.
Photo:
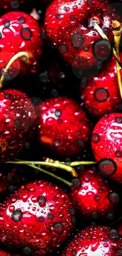
{"label": "dark shadowed cherry cut off at the top left corner", "polygon": [[28,10],[33,0],[1,0],[0,12],[8,13],[10,11]]}

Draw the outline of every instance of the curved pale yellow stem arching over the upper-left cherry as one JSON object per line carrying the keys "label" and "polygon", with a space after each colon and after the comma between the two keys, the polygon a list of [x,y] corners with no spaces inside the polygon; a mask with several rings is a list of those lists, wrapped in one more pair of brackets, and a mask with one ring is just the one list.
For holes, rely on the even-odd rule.
{"label": "curved pale yellow stem arching over the upper-left cherry", "polygon": [[17,54],[15,54],[15,56],[12,57],[12,59],[10,59],[10,61],[8,62],[6,68],[4,69],[4,72],[2,74],[2,77],[0,79],[0,89],[2,88],[3,86],[3,82],[5,80],[5,73],[8,72],[9,68],[11,67],[11,65],[13,64],[13,62],[18,59],[19,57],[22,57],[22,56],[26,56],[28,58],[29,56],[29,53],[28,52],[18,52]]}

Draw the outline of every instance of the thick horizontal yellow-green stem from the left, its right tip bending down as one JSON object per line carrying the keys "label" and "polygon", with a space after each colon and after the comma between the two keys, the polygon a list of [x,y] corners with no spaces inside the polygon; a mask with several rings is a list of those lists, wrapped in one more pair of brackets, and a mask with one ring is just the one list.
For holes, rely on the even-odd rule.
{"label": "thick horizontal yellow-green stem from the left, its right tip bending down", "polygon": [[38,164],[38,165],[44,165],[44,166],[48,166],[48,167],[54,167],[54,168],[59,168],[65,171],[68,171],[70,173],[72,173],[72,175],[74,177],[77,177],[77,172],[74,170],[74,168],[72,168],[71,166],[65,165],[65,164],[61,164],[59,163],[51,163],[51,162],[42,162],[42,161],[23,161],[23,160],[19,160],[19,159],[15,159],[15,161],[8,161],[5,163],[9,163],[9,164]]}

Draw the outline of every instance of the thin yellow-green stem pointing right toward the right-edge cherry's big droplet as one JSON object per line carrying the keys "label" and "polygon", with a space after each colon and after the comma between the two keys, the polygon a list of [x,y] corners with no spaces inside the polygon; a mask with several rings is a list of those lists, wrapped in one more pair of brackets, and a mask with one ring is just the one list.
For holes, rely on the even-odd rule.
{"label": "thin yellow-green stem pointing right toward the right-edge cherry's big droplet", "polygon": [[[58,164],[66,164],[65,162],[59,162],[58,160],[52,160],[50,158],[45,158],[44,160],[46,163],[58,163]],[[75,161],[75,162],[71,162],[69,164],[67,164],[68,166],[78,166],[78,165],[89,165],[89,164],[97,164],[94,161]]]}

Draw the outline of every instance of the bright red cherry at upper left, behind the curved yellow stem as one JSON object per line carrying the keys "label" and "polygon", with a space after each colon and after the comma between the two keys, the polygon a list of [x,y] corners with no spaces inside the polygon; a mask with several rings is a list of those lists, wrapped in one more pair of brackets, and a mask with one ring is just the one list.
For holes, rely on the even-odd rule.
{"label": "bright red cherry at upper left, behind the curved yellow stem", "polygon": [[[35,73],[41,55],[43,39],[37,21],[23,12],[10,12],[0,19],[0,74],[9,60],[18,52],[28,52],[29,57],[18,58],[10,67],[8,80],[18,74]],[[35,44],[36,41],[36,44]]]}

